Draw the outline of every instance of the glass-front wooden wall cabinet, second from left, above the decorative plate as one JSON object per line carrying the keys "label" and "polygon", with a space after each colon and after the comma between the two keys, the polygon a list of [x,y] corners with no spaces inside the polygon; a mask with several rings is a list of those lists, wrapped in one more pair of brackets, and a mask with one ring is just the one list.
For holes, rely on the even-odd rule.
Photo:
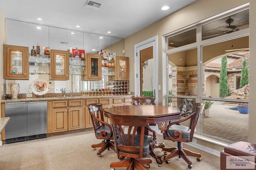
{"label": "glass-front wooden wall cabinet, second from left, above the decorative plate", "polygon": [[50,51],[50,80],[69,80],[69,56],[67,51]]}

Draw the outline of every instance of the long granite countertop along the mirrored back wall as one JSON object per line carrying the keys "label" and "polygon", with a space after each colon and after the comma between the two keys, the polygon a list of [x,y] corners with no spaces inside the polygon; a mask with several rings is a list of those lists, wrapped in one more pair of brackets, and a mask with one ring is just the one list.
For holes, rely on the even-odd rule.
{"label": "long granite countertop along the mirrored back wall", "polygon": [[47,98],[19,98],[19,99],[4,99],[1,103],[6,102],[35,102],[48,100],[77,100],[77,99],[94,99],[94,98],[131,98],[132,95],[112,95],[112,96],[66,96],[66,97],[47,97]]}

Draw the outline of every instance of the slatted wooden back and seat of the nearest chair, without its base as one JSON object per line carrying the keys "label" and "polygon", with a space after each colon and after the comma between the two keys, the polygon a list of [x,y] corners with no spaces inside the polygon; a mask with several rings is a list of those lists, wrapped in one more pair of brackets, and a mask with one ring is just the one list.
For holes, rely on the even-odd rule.
{"label": "slatted wooden back and seat of the nearest chair, without its base", "polygon": [[[153,139],[150,136],[144,136],[145,127],[147,126],[146,116],[112,114],[108,114],[108,116],[112,129],[117,131],[117,133],[114,133],[114,143],[118,156],[143,158],[150,153],[150,150],[144,150],[144,142],[149,142]],[[126,131],[122,128],[123,125],[126,126]],[[136,133],[137,131],[140,135]]]}

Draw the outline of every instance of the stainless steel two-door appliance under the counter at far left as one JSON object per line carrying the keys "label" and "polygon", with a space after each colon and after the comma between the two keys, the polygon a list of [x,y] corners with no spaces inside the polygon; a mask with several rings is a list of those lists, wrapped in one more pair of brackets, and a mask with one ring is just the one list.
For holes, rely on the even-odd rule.
{"label": "stainless steel two-door appliance under the counter at far left", "polygon": [[45,138],[47,133],[47,102],[9,102],[5,116],[5,143]]}

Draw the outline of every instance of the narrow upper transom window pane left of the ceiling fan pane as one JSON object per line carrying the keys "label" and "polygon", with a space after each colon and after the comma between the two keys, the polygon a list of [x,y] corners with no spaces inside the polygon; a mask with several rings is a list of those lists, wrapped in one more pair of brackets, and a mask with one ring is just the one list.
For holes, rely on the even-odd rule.
{"label": "narrow upper transom window pane left of the ceiling fan pane", "polygon": [[196,28],[169,37],[168,50],[191,43],[196,43]]}

